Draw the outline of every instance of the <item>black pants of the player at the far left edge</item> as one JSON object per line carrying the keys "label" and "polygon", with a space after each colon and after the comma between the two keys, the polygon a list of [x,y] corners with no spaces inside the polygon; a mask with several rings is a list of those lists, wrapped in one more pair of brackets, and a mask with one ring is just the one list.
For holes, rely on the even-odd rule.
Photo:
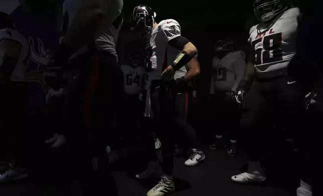
{"label": "black pants of the player at the far left edge", "polygon": [[24,167],[27,84],[21,81],[11,84],[10,88],[0,86],[0,161]]}

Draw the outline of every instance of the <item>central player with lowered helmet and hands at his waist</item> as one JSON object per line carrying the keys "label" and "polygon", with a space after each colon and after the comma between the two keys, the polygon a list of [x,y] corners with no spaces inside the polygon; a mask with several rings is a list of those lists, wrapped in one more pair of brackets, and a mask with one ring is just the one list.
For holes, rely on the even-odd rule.
{"label": "central player with lowered helmet and hands at his waist", "polygon": [[[139,5],[133,10],[135,29],[146,37],[145,68],[151,80],[151,107],[154,116],[161,119],[163,127],[160,141],[163,143],[163,171],[161,180],[147,192],[148,196],[161,196],[175,190],[173,175],[174,135],[176,124],[186,124],[187,81],[200,72],[197,48],[181,35],[181,26],[174,19],[155,22],[156,14],[148,6]],[[187,71],[190,61],[198,68]],[[205,155],[199,149],[192,158],[200,161]],[[192,161],[193,161],[192,160]]]}

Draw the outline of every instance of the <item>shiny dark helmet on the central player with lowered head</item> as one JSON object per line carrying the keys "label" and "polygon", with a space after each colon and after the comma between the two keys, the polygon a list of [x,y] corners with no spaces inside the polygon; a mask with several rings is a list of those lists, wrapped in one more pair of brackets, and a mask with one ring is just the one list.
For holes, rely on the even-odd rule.
{"label": "shiny dark helmet on the central player with lowered head", "polygon": [[132,20],[135,26],[143,24],[146,31],[151,31],[155,23],[156,13],[147,5],[139,5],[133,9]]}

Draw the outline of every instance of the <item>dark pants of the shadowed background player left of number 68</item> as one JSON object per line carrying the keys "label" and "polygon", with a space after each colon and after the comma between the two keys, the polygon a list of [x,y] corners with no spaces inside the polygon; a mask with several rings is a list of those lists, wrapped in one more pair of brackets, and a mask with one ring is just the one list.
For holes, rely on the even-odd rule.
{"label": "dark pants of the shadowed background player left of number 68", "polygon": [[229,133],[232,140],[237,139],[237,130],[241,118],[241,108],[234,100],[228,100],[226,92],[221,90],[214,93],[211,99],[212,114],[209,119],[209,127],[214,129],[216,135],[223,135],[224,131]]}

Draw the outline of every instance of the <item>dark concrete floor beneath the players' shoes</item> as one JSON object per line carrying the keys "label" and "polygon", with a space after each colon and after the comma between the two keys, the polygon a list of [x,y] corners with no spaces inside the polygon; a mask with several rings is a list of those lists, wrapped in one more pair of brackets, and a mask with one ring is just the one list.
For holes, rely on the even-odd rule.
{"label": "dark concrete floor beneath the players' shoes", "polygon": [[[158,154],[160,156],[160,151],[158,151]],[[143,153],[139,151],[131,152],[123,161],[114,165],[114,177],[120,196],[144,196],[157,183],[157,177],[142,181],[134,178],[135,173],[144,169],[145,166],[142,163],[145,162],[144,159]],[[174,196],[295,195],[295,184],[290,185],[290,179],[282,179],[281,176],[272,174],[270,171],[267,172],[268,180],[265,184],[241,185],[232,182],[230,177],[238,174],[241,166],[247,162],[244,153],[229,157],[224,150],[209,150],[206,152],[205,161],[193,167],[185,166],[185,160],[185,158],[175,158],[176,192],[172,194]],[[19,182],[0,185],[0,195],[61,196],[65,194],[62,189],[55,186],[40,185],[31,182],[29,179],[24,179]]]}

